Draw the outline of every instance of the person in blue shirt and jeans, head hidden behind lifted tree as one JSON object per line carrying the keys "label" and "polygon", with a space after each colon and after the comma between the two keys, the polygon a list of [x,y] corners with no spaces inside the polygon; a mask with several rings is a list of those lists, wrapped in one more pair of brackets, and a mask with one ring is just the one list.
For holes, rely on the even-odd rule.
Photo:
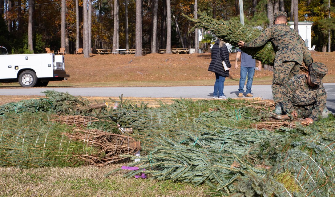
{"label": "person in blue shirt and jeans, head hidden behind lifted tree", "polygon": [[235,59],[235,69],[237,70],[239,68],[238,61],[241,60],[241,72],[240,72],[240,87],[239,87],[239,95],[238,97],[243,97],[244,92],[244,83],[246,81],[246,77],[248,76],[247,81],[247,91],[246,91],[246,97],[253,97],[251,94],[251,86],[252,81],[255,74],[255,68],[258,69],[258,71],[262,70],[262,63],[258,61],[258,67],[256,67],[256,61],[252,59],[252,57],[240,49],[237,51],[236,59]]}

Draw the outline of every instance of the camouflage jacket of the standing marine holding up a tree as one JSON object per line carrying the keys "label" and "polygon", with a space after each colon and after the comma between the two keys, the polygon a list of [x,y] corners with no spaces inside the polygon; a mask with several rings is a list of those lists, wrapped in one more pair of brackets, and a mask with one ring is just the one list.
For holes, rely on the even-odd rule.
{"label": "camouflage jacket of the standing marine holding up a tree", "polygon": [[313,63],[311,52],[298,32],[285,24],[275,24],[266,28],[256,39],[245,43],[244,47],[253,48],[264,45],[268,40],[274,44],[275,63],[295,61],[308,66]]}

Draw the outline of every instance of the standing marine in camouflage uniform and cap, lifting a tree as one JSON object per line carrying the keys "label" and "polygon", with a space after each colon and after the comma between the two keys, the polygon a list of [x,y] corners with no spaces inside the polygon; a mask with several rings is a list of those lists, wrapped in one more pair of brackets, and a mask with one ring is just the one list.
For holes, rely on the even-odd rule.
{"label": "standing marine in camouflage uniform and cap, lifting a tree", "polygon": [[294,29],[287,26],[286,12],[275,14],[272,26],[266,28],[256,39],[238,45],[245,48],[254,48],[264,45],[268,40],[274,44],[276,57],[273,66],[272,95],[276,109],[282,103],[284,85],[299,73],[300,65],[310,65],[313,62],[311,53],[305,41]]}

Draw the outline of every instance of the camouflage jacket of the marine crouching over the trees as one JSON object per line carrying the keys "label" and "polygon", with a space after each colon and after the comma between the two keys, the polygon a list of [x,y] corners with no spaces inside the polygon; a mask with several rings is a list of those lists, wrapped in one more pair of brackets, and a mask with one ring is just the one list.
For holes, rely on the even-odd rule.
{"label": "camouflage jacket of the marine crouching over the trees", "polygon": [[310,109],[314,106],[310,118],[317,120],[326,107],[327,92],[321,83],[311,87],[306,83],[306,75],[297,75],[285,85],[283,109],[286,113],[294,111],[293,106]]}

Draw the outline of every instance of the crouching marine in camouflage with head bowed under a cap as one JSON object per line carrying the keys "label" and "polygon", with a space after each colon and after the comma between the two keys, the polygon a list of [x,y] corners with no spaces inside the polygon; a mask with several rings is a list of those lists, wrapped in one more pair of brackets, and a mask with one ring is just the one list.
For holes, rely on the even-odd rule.
{"label": "crouching marine in camouflage with head bowed under a cap", "polygon": [[308,74],[290,79],[284,88],[284,112],[294,117],[302,116],[307,125],[317,121],[326,109],[327,92],[321,80],[327,73],[324,64],[315,62],[309,66]]}

